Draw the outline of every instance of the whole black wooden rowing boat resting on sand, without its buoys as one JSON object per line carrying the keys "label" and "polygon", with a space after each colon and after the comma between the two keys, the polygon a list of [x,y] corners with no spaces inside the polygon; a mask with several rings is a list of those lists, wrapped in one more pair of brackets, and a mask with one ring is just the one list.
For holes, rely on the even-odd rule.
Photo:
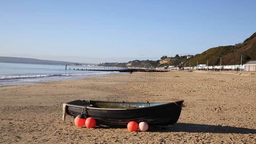
{"label": "whole black wooden rowing boat resting on sand, without its buoys", "polygon": [[63,104],[66,115],[92,117],[97,124],[128,124],[130,121],[147,122],[153,126],[172,126],[179,117],[183,100],[165,103],[109,102],[75,100]]}

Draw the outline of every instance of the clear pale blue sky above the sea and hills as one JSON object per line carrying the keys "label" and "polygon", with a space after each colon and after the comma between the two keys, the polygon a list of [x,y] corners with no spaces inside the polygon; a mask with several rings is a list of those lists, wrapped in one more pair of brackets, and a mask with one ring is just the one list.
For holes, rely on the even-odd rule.
{"label": "clear pale blue sky above the sea and hills", "polygon": [[0,1],[0,56],[158,60],[243,42],[256,1]]}

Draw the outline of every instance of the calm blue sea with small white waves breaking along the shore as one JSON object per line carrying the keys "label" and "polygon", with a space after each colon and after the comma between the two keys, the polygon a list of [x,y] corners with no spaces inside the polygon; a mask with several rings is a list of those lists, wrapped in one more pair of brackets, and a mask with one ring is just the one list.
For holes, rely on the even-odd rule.
{"label": "calm blue sea with small white waves breaking along the shore", "polygon": [[[70,70],[69,70],[70,68]],[[73,69],[87,69],[73,70]],[[0,62],[0,86],[36,84],[43,81],[60,81],[71,79],[83,79],[86,77],[100,77],[111,74],[119,74],[113,71],[91,71],[89,69],[104,69],[104,67],[85,67],[45,64],[24,63],[1,63]]]}

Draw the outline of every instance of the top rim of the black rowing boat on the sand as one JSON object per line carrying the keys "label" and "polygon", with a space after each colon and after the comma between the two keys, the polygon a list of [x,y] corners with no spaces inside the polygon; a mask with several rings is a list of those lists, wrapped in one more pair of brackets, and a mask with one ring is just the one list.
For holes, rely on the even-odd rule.
{"label": "top rim of the black rowing boat on the sand", "polygon": [[[104,103],[133,103],[133,102],[108,102],[108,101],[94,101],[93,102],[104,102]],[[141,108],[93,108],[93,107],[86,107],[87,109],[96,109],[96,110],[138,110],[138,109],[148,109],[148,108],[156,108],[156,107],[161,107],[161,106],[165,106],[165,105],[170,105],[172,103],[176,104],[177,106],[179,106],[176,102],[184,102],[184,100],[178,100],[178,101],[172,101],[172,102],[156,102],[156,103],[164,103],[164,104],[160,104],[160,105],[155,105],[155,106],[148,106],[148,107],[141,107]],[[137,104],[147,104],[147,103],[137,103]],[[153,104],[153,103],[151,103]],[[73,104],[68,104],[67,106],[69,107],[75,107],[75,108],[84,108],[85,106],[78,106],[78,105],[73,105]],[[179,106],[179,107],[182,107]]]}

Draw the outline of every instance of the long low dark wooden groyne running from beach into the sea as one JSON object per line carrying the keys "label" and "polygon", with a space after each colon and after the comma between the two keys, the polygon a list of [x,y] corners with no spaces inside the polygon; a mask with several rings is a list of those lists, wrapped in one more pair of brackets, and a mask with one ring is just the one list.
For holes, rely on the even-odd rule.
{"label": "long low dark wooden groyne running from beach into the sea", "polygon": [[90,71],[118,71],[118,72],[168,72],[170,70],[158,70],[158,69],[137,69],[137,68],[129,68],[129,69],[73,69],[73,70],[90,70]]}

